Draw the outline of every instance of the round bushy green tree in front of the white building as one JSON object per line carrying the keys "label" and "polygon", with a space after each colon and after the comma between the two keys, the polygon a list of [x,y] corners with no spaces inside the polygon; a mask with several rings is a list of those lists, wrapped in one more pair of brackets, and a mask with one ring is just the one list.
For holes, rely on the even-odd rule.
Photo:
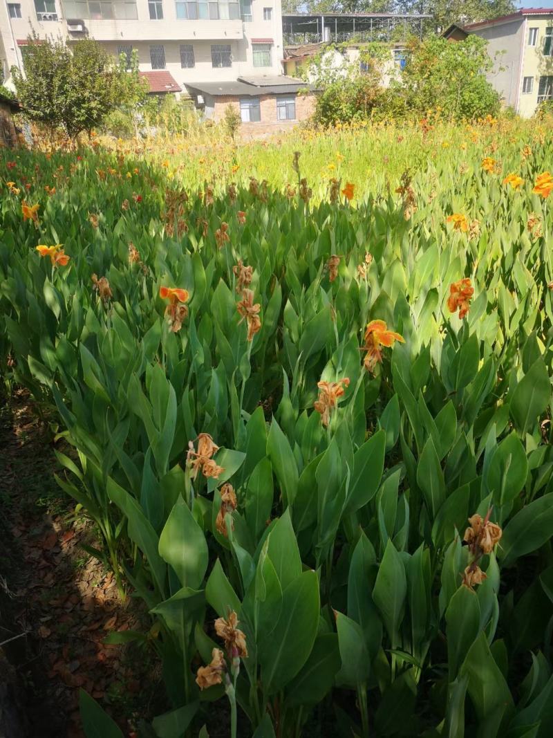
{"label": "round bushy green tree in front of the white building", "polygon": [[25,76],[13,67],[17,96],[32,120],[74,138],[99,127],[128,94],[129,77],[92,39],[68,46],[53,38],[25,46]]}

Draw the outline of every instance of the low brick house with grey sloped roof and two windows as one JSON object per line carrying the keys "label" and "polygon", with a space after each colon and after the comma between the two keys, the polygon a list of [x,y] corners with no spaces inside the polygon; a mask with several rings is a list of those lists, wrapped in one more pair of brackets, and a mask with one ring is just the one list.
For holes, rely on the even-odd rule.
{"label": "low brick house with grey sloped roof and two windows", "polygon": [[229,82],[195,82],[187,90],[197,108],[210,120],[221,120],[225,108],[232,105],[242,123],[265,124],[271,128],[289,128],[313,112],[314,90],[302,80],[291,77],[238,77]]}

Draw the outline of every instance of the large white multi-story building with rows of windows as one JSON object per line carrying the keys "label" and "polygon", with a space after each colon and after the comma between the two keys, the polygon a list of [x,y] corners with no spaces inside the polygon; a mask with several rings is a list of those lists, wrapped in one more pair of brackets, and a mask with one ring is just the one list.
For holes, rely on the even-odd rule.
{"label": "large white multi-story building with rows of windows", "polygon": [[13,66],[24,70],[24,49],[34,32],[39,39],[54,36],[69,43],[95,38],[114,56],[131,58],[136,49],[151,92],[186,88],[199,106],[204,103],[197,91],[204,85],[218,83],[226,94],[234,84],[237,92],[246,91],[235,100],[246,121],[252,97],[246,93],[254,92],[258,81],[271,80],[272,104],[265,102],[262,123],[282,120],[280,84],[287,97],[299,89],[291,90],[291,80],[282,77],[281,0],[0,0],[0,32],[8,85]]}

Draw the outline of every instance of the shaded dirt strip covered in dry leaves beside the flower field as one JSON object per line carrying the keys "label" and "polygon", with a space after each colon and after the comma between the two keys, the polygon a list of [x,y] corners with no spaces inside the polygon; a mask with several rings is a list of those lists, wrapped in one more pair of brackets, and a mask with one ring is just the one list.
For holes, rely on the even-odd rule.
{"label": "shaded dirt strip covered in dry leaves beside the flower field", "polygon": [[98,543],[53,478],[53,447],[24,393],[2,401],[0,734],[81,738],[82,687],[130,735],[135,719],[159,711],[159,666],[151,649],[103,641],[144,632],[149,618],[136,600],[121,601],[111,572],[81,548]]}

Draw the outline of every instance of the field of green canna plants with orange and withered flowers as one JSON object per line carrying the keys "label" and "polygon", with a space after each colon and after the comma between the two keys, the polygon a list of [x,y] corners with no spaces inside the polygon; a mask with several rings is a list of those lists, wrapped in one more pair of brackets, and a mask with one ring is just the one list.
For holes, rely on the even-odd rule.
{"label": "field of green canna plants with orange and withered flowers", "polygon": [[150,613],[136,735],[551,736],[551,123],[146,149],[0,152],[1,375]]}

